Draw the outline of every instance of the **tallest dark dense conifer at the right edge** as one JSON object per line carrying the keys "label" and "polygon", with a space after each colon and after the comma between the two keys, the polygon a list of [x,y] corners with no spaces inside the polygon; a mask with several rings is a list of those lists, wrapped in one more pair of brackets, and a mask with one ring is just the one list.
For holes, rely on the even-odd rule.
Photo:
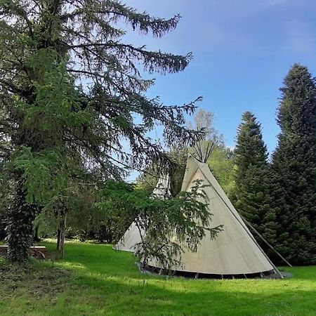
{"label": "tallest dark dense conifer at the right edge", "polygon": [[279,250],[294,264],[316,263],[316,81],[295,64],[280,89],[279,143],[273,169],[279,181]]}

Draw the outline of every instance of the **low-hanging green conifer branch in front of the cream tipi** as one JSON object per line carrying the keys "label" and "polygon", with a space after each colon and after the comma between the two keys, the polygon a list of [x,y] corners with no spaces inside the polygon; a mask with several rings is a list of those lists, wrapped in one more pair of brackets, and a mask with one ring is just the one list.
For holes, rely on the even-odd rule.
{"label": "low-hanging green conifer branch in front of the cream tipi", "polygon": [[209,228],[211,213],[203,187],[197,181],[190,192],[158,199],[131,184],[109,182],[98,207],[112,211],[112,216],[130,216],[130,223],[135,221],[142,239],[136,245],[140,261],[154,259],[169,268],[179,262],[183,246],[196,251],[202,237],[209,235],[214,239],[221,230],[221,226]]}

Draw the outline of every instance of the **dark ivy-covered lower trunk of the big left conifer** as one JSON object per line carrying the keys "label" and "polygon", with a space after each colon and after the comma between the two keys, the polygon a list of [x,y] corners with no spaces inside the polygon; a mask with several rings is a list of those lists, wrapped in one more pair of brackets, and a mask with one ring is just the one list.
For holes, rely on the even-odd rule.
{"label": "dark ivy-covered lower trunk of the big left conifer", "polygon": [[37,213],[34,204],[26,202],[26,189],[23,180],[18,180],[15,197],[8,211],[8,259],[13,262],[25,262],[29,246],[33,242],[33,222]]}

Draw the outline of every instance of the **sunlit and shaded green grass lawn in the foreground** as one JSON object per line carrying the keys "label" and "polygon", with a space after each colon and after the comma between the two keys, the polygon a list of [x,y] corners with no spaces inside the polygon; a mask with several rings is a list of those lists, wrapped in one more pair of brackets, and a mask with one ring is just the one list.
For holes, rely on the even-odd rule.
{"label": "sunlit and shaded green grass lawn in the foreground", "polygon": [[[54,244],[46,244],[53,249]],[[316,315],[316,266],[290,279],[144,275],[132,254],[72,243],[55,263],[0,261],[0,315]]]}

